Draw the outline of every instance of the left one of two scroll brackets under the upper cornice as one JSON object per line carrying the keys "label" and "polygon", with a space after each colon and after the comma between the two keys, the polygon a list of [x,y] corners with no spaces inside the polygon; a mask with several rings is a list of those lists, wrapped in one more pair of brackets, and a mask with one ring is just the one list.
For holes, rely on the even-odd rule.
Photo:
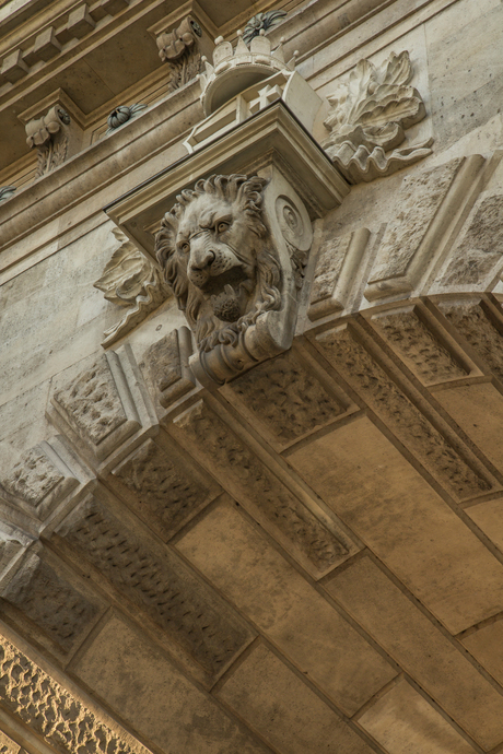
{"label": "left one of two scroll brackets under the upper cornice", "polygon": [[66,161],[69,123],[70,116],[59,105],[51,107],[40,118],[34,118],[26,123],[26,143],[31,149],[37,149],[36,178],[50,173]]}

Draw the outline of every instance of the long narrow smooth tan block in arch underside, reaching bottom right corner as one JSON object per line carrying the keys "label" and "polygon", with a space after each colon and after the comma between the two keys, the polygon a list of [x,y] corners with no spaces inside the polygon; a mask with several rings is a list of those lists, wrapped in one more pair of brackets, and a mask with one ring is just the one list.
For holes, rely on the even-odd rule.
{"label": "long narrow smooth tan block in arch underside, reaching bottom right corner", "polygon": [[[337,574],[327,589],[481,745],[491,747],[502,739],[503,697],[369,557]],[[426,743],[424,751],[430,752]]]}

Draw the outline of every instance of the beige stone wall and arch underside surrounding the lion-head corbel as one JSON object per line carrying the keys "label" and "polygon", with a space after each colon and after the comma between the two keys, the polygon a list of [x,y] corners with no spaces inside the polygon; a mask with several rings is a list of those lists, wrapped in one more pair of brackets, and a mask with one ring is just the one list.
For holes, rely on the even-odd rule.
{"label": "beige stone wall and arch underside surrounding the lion-head corbel", "polygon": [[[60,5],[43,10],[56,31]],[[315,221],[292,349],[214,391],[187,379],[172,296],[104,349],[125,309],[93,287],[120,245],[103,208],[180,160],[203,117],[197,82],[166,94],[145,31],[176,7],[124,3],[0,85],[0,186],[19,187],[0,203],[5,752],[503,752],[503,5],[282,7],[269,37],[320,96],[408,50],[426,117],[406,143],[432,154]],[[234,40],[268,8],[192,12]],[[30,51],[39,17],[23,23]],[[75,60],[98,75],[128,24],[141,75],[131,31],[100,92]],[[2,55],[23,49],[5,28]],[[81,149],[24,182],[14,116],[66,66]]]}

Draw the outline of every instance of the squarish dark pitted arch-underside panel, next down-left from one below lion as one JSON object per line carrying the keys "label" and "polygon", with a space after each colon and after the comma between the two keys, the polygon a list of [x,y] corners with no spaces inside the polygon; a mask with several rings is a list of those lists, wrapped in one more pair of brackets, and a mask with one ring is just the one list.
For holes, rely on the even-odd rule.
{"label": "squarish dark pitted arch-underside panel, next down-left from one below lion", "polygon": [[134,509],[168,539],[208,500],[209,491],[180,459],[148,439],[115,470],[133,495]]}

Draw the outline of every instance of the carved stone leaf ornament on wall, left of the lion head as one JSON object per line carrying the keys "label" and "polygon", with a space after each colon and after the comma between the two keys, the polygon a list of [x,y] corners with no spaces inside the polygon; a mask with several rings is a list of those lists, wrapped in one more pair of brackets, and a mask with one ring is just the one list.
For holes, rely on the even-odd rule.
{"label": "carved stone leaf ornament on wall, left of the lion head", "polygon": [[157,268],[118,227],[113,234],[120,246],[106,263],[94,287],[103,291],[113,304],[129,309],[113,327],[105,330],[103,345],[109,345],[137,327],[171,295]]}

